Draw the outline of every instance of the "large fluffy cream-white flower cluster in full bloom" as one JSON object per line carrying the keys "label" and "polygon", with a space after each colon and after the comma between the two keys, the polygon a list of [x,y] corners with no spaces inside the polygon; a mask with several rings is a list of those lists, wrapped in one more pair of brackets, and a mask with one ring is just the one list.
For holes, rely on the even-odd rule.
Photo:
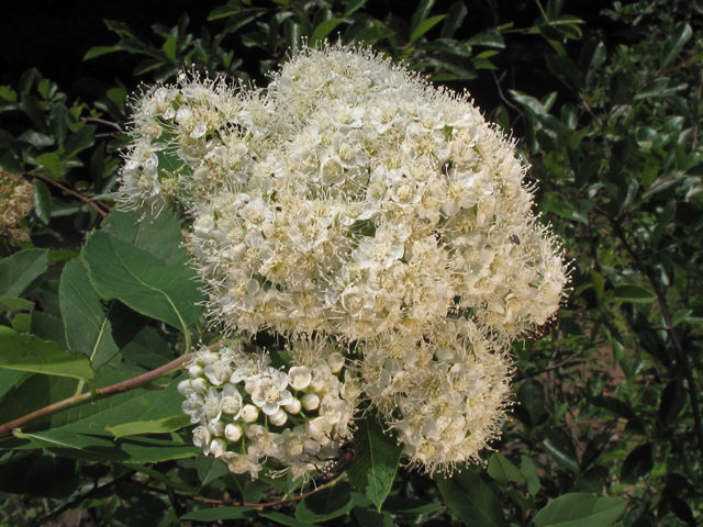
{"label": "large fluffy cream-white flower cluster in full bloom", "polygon": [[567,278],[514,145],[469,100],[327,46],[266,90],[182,76],[134,124],[122,199],[193,216],[216,322],[354,345],[412,462],[476,459],[503,414],[506,350]]}

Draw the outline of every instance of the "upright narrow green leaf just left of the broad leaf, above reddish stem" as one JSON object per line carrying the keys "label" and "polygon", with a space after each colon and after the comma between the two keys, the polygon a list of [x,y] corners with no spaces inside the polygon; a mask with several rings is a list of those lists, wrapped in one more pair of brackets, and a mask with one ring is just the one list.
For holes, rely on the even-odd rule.
{"label": "upright narrow green leaf just left of the broad leaf, above reddish stem", "polygon": [[120,348],[112,338],[112,324],[81,259],[64,267],[58,296],[68,349],[88,356],[96,370],[101,368]]}

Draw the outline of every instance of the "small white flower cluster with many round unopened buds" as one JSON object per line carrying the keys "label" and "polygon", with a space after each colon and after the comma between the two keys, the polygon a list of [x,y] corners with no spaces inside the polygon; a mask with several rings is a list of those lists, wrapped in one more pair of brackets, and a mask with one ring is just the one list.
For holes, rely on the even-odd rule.
{"label": "small white flower cluster with many round unopened buds", "polygon": [[[345,372],[345,358],[332,346],[293,354],[287,372],[269,366],[267,354],[227,346],[202,347],[186,365],[190,379],[178,391],[186,397],[193,442],[236,473],[257,478],[261,460],[275,460],[293,479],[308,478],[334,455],[349,425],[359,386]],[[339,440],[333,440],[333,438]]]}

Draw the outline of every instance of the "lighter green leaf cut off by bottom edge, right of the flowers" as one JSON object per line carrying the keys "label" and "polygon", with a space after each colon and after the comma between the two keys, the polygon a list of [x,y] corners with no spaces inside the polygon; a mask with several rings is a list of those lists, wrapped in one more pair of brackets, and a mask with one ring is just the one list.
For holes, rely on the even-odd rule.
{"label": "lighter green leaf cut off by bottom edge, right of the flowers", "polygon": [[610,527],[626,507],[620,497],[571,493],[539,511],[534,523],[536,527]]}

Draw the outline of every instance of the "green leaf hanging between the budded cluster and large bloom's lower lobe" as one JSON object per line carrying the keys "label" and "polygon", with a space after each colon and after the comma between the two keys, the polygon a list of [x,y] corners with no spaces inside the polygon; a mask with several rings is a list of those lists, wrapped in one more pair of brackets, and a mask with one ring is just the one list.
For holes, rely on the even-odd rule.
{"label": "green leaf hanging between the budded cluster and large bloom's lower lobe", "polygon": [[393,485],[402,449],[372,418],[359,422],[355,442],[357,456],[347,471],[349,479],[380,509]]}

